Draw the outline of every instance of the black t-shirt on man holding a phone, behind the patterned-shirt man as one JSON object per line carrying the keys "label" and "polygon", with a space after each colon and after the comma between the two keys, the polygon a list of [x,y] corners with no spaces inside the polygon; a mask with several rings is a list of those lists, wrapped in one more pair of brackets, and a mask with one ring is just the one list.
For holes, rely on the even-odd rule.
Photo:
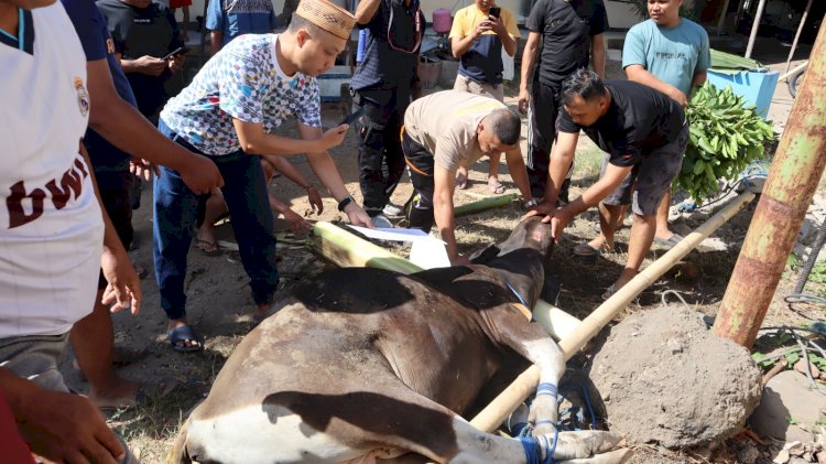
{"label": "black t-shirt on man holding a phone, behind the patterned-shirt man", "polygon": [[[121,0],[99,0],[97,6],[109,22],[115,48],[124,60],[144,55],[161,58],[183,45],[175,17],[162,3],[153,1],[146,8],[135,8]],[[127,74],[142,114],[154,115],[166,102],[164,83],[170,76],[169,68],[160,76]]]}

